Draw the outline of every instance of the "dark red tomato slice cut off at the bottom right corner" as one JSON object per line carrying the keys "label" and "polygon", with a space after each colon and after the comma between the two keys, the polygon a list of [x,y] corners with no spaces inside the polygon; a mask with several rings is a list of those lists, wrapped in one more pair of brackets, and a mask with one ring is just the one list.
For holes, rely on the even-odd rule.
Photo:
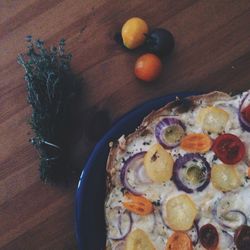
{"label": "dark red tomato slice cut off at the bottom right corner", "polygon": [[250,227],[242,225],[234,233],[234,242],[239,250],[248,250],[250,246]]}

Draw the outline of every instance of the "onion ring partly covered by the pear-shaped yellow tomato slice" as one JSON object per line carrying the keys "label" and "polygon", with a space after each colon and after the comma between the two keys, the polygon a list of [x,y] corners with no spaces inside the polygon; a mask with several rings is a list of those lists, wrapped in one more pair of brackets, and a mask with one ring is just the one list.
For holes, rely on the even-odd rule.
{"label": "onion ring partly covered by the pear-shaped yellow tomato slice", "polygon": [[[152,181],[144,171],[143,159],[146,152],[140,152],[131,156],[124,163],[121,170],[121,182],[123,186],[135,195],[142,195],[144,188]],[[130,178],[129,178],[130,177]]]}

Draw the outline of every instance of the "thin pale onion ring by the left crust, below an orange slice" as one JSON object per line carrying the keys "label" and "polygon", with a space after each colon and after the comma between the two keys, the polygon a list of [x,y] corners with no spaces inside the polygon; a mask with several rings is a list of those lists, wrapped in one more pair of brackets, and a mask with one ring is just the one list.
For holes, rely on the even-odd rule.
{"label": "thin pale onion ring by the left crust, below an orange slice", "polygon": [[123,240],[132,227],[130,213],[117,206],[107,211],[107,217],[109,221],[108,238],[111,240]]}

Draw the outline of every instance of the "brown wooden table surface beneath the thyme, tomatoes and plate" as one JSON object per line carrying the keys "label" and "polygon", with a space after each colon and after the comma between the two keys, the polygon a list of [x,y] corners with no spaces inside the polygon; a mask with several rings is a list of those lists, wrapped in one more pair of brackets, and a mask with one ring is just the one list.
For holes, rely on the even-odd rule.
{"label": "brown wooden table surface beneath the thyme, tomatoes and plate", "polygon": [[[84,121],[92,111],[107,110],[114,121],[136,105],[178,91],[227,92],[249,89],[250,1],[0,1],[0,248],[76,249],[74,196],[68,188],[39,180],[38,155],[28,142],[30,107],[24,72],[16,63],[24,37],[48,44],[67,40],[72,66],[84,76],[72,165],[82,168],[95,141]],[[143,84],[133,74],[137,54],[113,40],[132,16],[175,36],[176,48],[162,76]]]}

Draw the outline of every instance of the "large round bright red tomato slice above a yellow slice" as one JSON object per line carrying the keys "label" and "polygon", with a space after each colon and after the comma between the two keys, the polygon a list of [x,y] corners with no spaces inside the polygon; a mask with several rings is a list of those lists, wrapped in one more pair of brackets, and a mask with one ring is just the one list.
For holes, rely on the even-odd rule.
{"label": "large round bright red tomato slice above a yellow slice", "polygon": [[236,164],[245,156],[245,145],[232,134],[223,134],[216,138],[213,151],[217,157],[225,164]]}

